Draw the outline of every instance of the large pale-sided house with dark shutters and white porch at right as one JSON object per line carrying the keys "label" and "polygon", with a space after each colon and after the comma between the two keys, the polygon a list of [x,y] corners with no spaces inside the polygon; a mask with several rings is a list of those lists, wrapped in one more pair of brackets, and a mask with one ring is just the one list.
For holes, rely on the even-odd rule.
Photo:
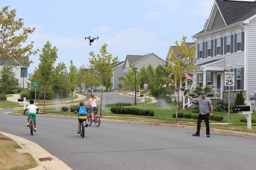
{"label": "large pale-sided house with dark shutters and white porch at right", "polygon": [[[256,92],[256,2],[215,0],[209,19],[196,39],[197,53],[193,71],[196,84],[215,86],[218,99],[234,103],[242,91],[245,103],[254,102]],[[231,87],[224,72],[235,72]],[[252,101],[252,100],[251,100]]]}

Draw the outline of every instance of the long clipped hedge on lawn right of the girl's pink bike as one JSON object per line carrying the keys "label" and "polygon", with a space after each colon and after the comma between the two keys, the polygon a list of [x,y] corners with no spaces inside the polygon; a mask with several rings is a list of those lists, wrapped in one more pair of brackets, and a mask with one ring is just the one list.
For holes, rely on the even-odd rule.
{"label": "long clipped hedge on lawn right of the girl's pink bike", "polygon": [[124,115],[140,115],[140,116],[154,116],[155,113],[152,110],[138,109],[135,107],[111,107],[110,111],[115,114]]}

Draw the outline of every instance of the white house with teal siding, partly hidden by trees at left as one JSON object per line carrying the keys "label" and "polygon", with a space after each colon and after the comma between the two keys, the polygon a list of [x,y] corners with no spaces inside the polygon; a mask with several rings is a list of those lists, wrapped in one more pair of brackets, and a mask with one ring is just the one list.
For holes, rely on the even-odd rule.
{"label": "white house with teal siding, partly hidden by trees at left", "polygon": [[[15,78],[18,79],[17,86],[21,88],[28,88],[27,84],[27,69],[29,68],[29,64],[20,64],[20,63],[29,63],[29,57],[26,58],[26,62],[20,62],[21,60],[24,60],[25,58],[14,60],[14,67],[12,68],[12,71],[15,72]],[[1,67],[5,65],[5,63],[1,64]]]}

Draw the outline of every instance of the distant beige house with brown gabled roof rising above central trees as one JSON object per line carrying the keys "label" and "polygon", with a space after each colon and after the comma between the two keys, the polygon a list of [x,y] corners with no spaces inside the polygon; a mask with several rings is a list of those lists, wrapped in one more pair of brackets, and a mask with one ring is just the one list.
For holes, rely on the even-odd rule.
{"label": "distant beige house with brown gabled roof rising above central trees", "polygon": [[155,69],[159,64],[164,65],[166,62],[165,60],[161,59],[159,56],[155,55],[154,53],[146,54],[146,55],[126,55],[124,66],[123,66],[123,75],[119,78],[120,83],[123,82],[123,76],[135,65],[137,72],[140,72],[140,69],[149,64]]}

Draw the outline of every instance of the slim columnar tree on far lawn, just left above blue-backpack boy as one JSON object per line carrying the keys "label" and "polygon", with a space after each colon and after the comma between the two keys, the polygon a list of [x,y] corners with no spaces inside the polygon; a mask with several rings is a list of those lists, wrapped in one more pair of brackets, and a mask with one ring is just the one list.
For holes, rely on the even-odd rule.
{"label": "slim columnar tree on far lawn, just left above blue-backpack boy", "polygon": [[69,90],[71,91],[71,105],[72,105],[73,93],[77,88],[77,68],[73,65],[72,60],[70,60],[68,80],[69,80]]}

